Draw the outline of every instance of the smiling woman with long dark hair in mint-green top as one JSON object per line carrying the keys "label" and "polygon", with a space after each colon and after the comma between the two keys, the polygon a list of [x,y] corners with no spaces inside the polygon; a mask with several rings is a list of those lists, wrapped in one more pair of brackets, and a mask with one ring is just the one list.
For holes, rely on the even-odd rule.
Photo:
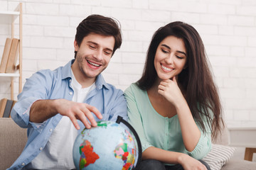
{"label": "smiling woman with long dark hair in mint-green top", "polygon": [[220,98],[192,26],[154,33],[142,78],[125,91],[129,123],[142,142],[139,169],[210,169],[201,161],[220,130]]}

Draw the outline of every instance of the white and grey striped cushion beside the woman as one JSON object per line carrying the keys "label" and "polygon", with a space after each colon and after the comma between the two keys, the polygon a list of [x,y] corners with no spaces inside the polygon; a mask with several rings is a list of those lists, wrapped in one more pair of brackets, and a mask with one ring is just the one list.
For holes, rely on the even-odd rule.
{"label": "white and grey striped cushion beside the woman", "polygon": [[212,149],[203,158],[211,170],[220,170],[222,166],[228,162],[228,160],[233,156],[235,152],[235,147],[228,147],[224,145],[212,145]]}

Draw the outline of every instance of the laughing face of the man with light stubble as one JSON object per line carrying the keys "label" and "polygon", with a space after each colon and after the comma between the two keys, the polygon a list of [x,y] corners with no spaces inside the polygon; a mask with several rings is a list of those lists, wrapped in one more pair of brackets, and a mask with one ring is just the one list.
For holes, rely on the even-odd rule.
{"label": "laughing face of the man with light stubble", "polygon": [[[110,62],[114,49],[114,37],[90,33],[83,38],[80,47],[74,42],[77,55],[74,67],[83,79],[95,79]],[[74,71],[73,71],[74,72]]]}

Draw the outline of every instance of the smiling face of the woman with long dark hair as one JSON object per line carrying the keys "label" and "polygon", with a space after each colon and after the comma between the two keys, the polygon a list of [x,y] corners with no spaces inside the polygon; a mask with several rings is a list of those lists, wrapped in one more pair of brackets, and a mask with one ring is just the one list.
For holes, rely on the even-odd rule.
{"label": "smiling face of the woman with long dark hair", "polygon": [[161,80],[177,76],[186,67],[186,48],[181,38],[168,36],[159,43],[154,58],[154,67]]}

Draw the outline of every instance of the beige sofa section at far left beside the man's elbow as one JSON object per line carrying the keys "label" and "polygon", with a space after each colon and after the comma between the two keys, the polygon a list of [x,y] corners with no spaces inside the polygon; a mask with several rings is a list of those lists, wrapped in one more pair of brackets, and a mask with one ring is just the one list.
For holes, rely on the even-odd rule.
{"label": "beige sofa section at far left beside the man's elbow", "polygon": [[7,169],[21,154],[26,145],[26,129],[20,128],[11,118],[0,118],[0,169]]}

